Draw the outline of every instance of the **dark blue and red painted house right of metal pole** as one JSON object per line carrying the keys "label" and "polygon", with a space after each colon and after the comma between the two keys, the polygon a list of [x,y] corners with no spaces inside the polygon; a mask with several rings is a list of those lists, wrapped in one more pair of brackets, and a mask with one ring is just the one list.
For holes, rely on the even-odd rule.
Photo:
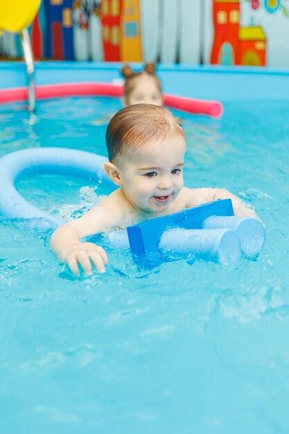
{"label": "dark blue and red painted house right of metal pole", "polygon": [[45,0],[46,55],[57,60],[72,60],[72,0]]}

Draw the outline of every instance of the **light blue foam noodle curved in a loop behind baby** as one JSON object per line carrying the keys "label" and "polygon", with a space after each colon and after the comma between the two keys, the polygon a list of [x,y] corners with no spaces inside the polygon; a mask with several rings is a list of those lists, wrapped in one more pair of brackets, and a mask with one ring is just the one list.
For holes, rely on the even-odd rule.
{"label": "light blue foam noodle curved in a loop behind baby", "polygon": [[43,218],[57,227],[64,222],[24,199],[15,189],[17,179],[39,173],[60,173],[110,182],[103,170],[106,160],[100,155],[69,148],[30,148],[7,154],[0,159],[0,213],[8,218]]}

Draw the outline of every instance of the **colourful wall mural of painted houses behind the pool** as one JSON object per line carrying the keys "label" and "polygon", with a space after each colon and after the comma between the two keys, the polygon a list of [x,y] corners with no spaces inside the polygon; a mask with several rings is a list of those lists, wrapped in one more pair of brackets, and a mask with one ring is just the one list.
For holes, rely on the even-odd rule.
{"label": "colourful wall mural of painted houses behind the pool", "polygon": [[36,59],[288,68],[288,26],[289,0],[42,0],[30,35]]}

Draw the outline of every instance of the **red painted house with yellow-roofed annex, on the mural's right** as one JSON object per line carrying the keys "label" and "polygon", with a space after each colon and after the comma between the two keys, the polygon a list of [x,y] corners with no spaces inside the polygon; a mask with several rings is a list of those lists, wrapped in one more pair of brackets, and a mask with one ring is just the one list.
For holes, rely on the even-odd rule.
{"label": "red painted house with yellow-roofed annex, on the mural's right", "polygon": [[212,1],[211,64],[265,66],[265,33],[259,26],[240,27],[240,0]]}

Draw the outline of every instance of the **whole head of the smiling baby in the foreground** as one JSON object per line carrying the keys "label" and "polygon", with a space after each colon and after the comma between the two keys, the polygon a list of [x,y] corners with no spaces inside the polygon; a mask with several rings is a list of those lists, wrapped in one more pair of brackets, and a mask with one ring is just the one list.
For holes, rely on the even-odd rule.
{"label": "whole head of the smiling baby in the foreground", "polygon": [[133,207],[161,213],[183,186],[186,142],[166,107],[136,104],[114,115],[106,132],[105,171]]}

